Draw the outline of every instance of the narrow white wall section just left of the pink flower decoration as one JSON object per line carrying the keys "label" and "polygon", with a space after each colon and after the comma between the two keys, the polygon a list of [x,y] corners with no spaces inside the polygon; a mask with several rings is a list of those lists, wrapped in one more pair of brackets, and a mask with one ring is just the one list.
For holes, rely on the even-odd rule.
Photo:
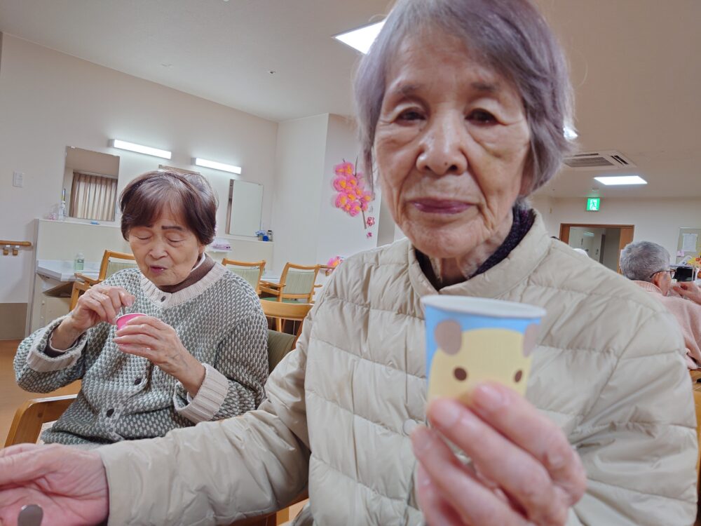
{"label": "narrow white wall section just left of the pink flower decoration", "polygon": [[287,261],[316,264],[329,114],[278,126],[273,196],[274,274]]}

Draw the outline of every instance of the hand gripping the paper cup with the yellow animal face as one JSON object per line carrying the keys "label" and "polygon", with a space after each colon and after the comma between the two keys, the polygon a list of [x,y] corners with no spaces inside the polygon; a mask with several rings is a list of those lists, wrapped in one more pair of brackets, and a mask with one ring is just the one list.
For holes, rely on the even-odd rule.
{"label": "hand gripping the paper cup with the yellow animal face", "polygon": [[428,419],[434,429],[418,428],[411,439],[418,500],[430,525],[566,523],[585,491],[584,468],[562,430],[524,398],[482,384],[468,405],[434,400]]}

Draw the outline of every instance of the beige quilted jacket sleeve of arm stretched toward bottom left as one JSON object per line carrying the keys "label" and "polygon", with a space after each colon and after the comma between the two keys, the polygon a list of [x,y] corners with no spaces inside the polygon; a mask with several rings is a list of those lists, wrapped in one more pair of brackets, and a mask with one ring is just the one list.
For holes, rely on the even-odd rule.
{"label": "beige quilted jacket sleeve of arm stretched toward bottom left", "polygon": [[308,476],[304,375],[311,328],[310,317],[297,349],[268,378],[258,410],[99,448],[109,526],[229,524],[297,497]]}

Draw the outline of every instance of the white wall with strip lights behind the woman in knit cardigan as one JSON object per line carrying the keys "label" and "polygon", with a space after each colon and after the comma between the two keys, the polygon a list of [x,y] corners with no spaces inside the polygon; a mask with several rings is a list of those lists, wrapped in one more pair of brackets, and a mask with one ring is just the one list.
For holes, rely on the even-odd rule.
{"label": "white wall with strip lights behind the woman in knit cardigan", "polygon": [[[242,166],[240,178],[264,185],[262,222],[271,227],[277,123],[7,34],[0,64],[0,238],[34,242],[34,219],[60,199],[67,146],[119,155],[119,190],[161,162],[189,168],[200,156]],[[173,158],[112,149],[111,138],[169,149]],[[12,186],[13,170],[25,173],[23,188]],[[221,235],[235,176],[198,171],[219,196]],[[27,302],[33,261],[32,250],[0,256],[0,304]]]}

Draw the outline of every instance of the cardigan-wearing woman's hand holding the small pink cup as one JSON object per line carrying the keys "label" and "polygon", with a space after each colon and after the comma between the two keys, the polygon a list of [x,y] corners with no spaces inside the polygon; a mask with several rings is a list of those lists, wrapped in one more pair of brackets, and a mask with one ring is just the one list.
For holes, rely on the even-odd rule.
{"label": "cardigan-wearing woman's hand holding the small pink cup", "polygon": [[163,372],[177,378],[190,396],[195,396],[205,379],[205,367],[180,341],[168,323],[152,316],[138,316],[116,332],[114,342],[122,352],[143,356]]}

